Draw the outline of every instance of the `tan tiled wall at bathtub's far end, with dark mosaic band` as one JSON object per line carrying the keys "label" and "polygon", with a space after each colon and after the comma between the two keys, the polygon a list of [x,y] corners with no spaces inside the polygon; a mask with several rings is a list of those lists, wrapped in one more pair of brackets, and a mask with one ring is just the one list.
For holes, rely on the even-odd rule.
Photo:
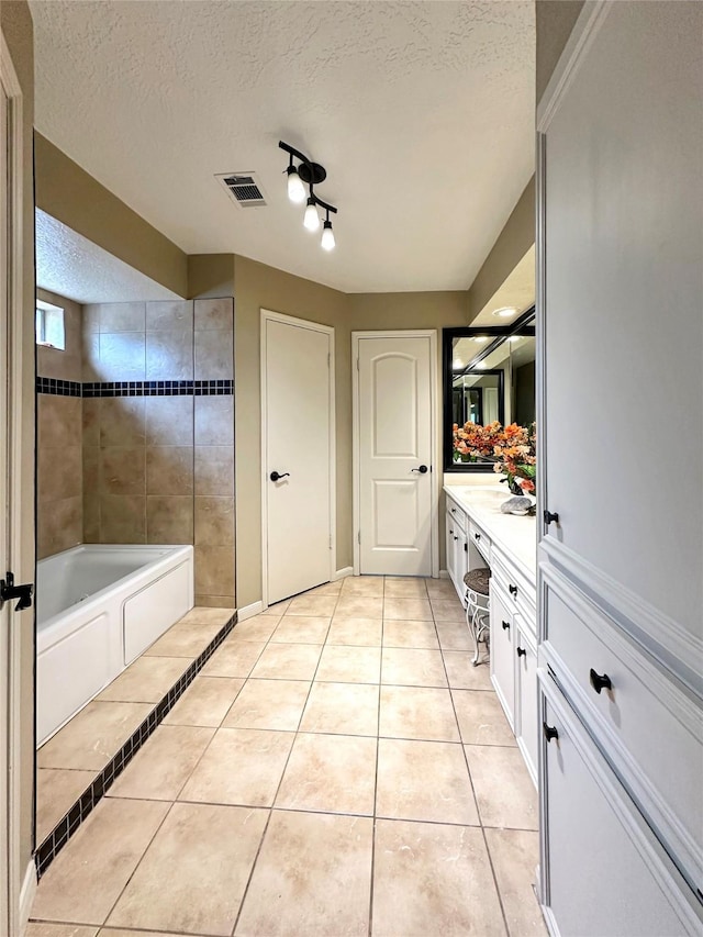
{"label": "tan tiled wall at bathtub's far end, with dark mosaic band", "polygon": [[[70,440],[75,477],[78,438],[80,540],[193,544],[197,603],[228,607],[235,606],[233,303],[83,305],[80,400],[70,398],[71,384],[43,389],[42,378],[52,376],[42,373],[41,361],[37,381],[40,493],[51,488],[57,465],[49,444]],[[46,556],[71,544],[57,538],[41,494],[40,502]]]}

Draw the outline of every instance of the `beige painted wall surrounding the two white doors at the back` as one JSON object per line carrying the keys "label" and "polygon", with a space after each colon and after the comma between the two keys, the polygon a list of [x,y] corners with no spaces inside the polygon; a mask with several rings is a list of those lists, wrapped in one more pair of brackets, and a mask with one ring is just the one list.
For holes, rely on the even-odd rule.
{"label": "beige painted wall surrounding the two white doors at the back", "polygon": [[[343,569],[353,565],[352,332],[465,325],[467,295],[464,291],[345,295],[236,257],[235,303],[237,605],[243,607],[261,599],[260,310],[335,328],[337,569]],[[439,335],[438,339],[440,346]],[[440,356],[439,348],[437,354]],[[437,373],[439,403],[439,360]],[[439,540],[442,544],[443,538]]]}

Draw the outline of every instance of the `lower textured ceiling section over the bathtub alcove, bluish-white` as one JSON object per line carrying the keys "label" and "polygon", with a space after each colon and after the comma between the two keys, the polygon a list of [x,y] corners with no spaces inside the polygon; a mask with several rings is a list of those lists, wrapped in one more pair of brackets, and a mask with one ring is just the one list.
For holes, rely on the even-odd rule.
{"label": "lower textured ceiling section over the bathtub alcove, bluish-white", "polygon": [[180,299],[38,209],[35,230],[42,289],[79,303]]}

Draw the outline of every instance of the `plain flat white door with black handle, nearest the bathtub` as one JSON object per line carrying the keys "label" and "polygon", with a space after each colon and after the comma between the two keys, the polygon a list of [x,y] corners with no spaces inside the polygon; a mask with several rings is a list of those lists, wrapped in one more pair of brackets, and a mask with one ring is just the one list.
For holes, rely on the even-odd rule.
{"label": "plain flat white door with black handle, nearest the bathtub", "polygon": [[263,339],[263,551],[272,604],[332,575],[332,334],[264,313]]}

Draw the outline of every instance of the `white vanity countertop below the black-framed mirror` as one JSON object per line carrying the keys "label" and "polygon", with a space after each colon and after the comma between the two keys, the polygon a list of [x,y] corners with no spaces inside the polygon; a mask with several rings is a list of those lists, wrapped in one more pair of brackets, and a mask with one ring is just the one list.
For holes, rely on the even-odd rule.
{"label": "white vanity countertop below the black-framed mirror", "polygon": [[504,484],[445,484],[444,490],[476,521],[517,566],[523,576],[536,582],[537,523],[535,517],[502,514],[501,504],[511,497]]}

